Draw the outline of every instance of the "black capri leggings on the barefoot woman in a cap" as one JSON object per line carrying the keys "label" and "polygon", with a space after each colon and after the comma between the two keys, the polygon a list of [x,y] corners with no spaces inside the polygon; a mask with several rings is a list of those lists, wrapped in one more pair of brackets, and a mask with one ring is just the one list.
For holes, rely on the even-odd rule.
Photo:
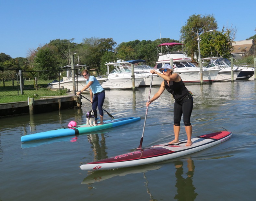
{"label": "black capri leggings on the barefoot woman in a cap", "polygon": [[190,117],[193,110],[193,97],[183,99],[182,101],[174,102],[173,107],[173,122],[175,126],[180,126],[181,116],[183,114],[183,122],[185,126],[190,126]]}

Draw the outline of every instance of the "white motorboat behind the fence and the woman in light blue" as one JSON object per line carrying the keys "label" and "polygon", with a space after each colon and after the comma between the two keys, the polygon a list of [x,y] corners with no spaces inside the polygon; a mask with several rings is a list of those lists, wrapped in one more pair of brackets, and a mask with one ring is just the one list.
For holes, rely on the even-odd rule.
{"label": "white motorboat behind the fence and the woman in light blue", "polygon": [[[71,66],[67,65],[62,67],[66,71],[66,77],[63,77],[63,79],[59,82],[58,80],[53,80],[51,83],[48,83],[47,88],[51,89],[67,89],[67,91],[80,91],[86,86],[86,81],[82,75],[81,75],[81,68],[84,68],[86,66],[84,65],[76,65],[74,66],[74,80],[75,82],[73,83],[73,77],[72,77],[72,69]],[[102,78],[101,76],[95,76],[95,78],[99,81],[99,83],[102,85],[102,83],[106,80],[107,78]],[[89,92],[89,89],[83,91],[83,93]]]}

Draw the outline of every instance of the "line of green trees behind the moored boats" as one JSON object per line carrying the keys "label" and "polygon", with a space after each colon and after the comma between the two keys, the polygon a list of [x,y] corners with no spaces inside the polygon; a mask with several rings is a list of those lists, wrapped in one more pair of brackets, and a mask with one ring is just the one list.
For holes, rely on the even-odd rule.
{"label": "line of green trees behind the moored boats", "polygon": [[[29,49],[27,58],[11,58],[5,53],[0,53],[0,69],[56,70],[71,65],[71,55],[74,55],[75,65],[87,65],[88,69],[98,69],[101,75],[107,72],[107,67],[104,65],[106,62],[118,59],[125,61],[143,59],[154,67],[158,59],[157,46],[168,42],[184,44],[173,47],[172,51],[182,50],[193,61],[197,61],[199,36],[201,58],[230,58],[236,29],[224,26],[220,31],[217,29],[214,15],[192,15],[180,29],[180,40],[170,38],[154,41],[134,40],[117,45],[113,38],[83,38],[81,43],[73,42],[74,38],[54,39],[37,49]],[[209,30],[214,31],[208,32]],[[256,38],[255,36],[253,39]]]}

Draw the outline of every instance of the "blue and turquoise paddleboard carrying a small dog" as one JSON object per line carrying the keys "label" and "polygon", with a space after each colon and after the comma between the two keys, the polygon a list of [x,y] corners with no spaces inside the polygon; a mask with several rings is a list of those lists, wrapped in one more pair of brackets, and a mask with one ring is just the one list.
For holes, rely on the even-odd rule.
{"label": "blue and turquoise paddleboard carrying a small dog", "polygon": [[140,120],[140,117],[127,117],[127,118],[120,118],[120,119],[105,120],[103,121],[104,124],[99,126],[90,126],[90,125],[82,124],[76,127],[60,128],[52,131],[39,132],[31,135],[24,135],[24,136],[21,136],[20,140],[21,142],[28,142],[32,140],[63,137],[68,135],[78,135],[78,134],[83,134],[87,132],[94,132],[94,131],[99,131],[103,129],[108,129],[108,128],[124,125],[127,123],[139,121],[139,120]]}

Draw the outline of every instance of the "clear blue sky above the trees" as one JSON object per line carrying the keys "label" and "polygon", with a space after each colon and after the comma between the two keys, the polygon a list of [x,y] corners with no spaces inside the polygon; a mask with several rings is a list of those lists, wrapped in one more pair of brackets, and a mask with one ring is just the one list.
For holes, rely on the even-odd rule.
{"label": "clear blue sky above the trees", "polygon": [[218,30],[237,29],[235,41],[256,34],[255,0],[0,0],[0,53],[27,57],[53,39],[179,40],[189,16],[214,15]]}

